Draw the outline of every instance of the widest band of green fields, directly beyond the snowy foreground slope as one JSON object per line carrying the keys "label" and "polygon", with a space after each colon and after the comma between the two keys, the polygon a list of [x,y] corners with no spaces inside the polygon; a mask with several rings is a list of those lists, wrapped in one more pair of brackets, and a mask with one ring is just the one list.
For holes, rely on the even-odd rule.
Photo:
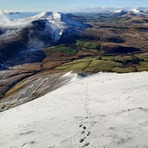
{"label": "widest band of green fields, directly beyond the snowy foreground slope", "polygon": [[[88,73],[96,73],[101,71],[117,73],[147,71],[148,62],[144,61],[144,58],[145,57],[143,57],[143,55],[102,56],[101,59],[98,56],[89,57],[65,63],[57,67],[56,70],[74,70]],[[147,60],[147,57],[145,59]]]}

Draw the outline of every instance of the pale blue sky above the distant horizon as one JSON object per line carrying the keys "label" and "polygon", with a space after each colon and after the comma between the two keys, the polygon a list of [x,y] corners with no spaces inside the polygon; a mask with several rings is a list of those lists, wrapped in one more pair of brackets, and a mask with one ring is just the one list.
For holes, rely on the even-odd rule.
{"label": "pale blue sky above the distant horizon", "polygon": [[9,11],[68,11],[88,7],[148,7],[148,0],[0,0]]}

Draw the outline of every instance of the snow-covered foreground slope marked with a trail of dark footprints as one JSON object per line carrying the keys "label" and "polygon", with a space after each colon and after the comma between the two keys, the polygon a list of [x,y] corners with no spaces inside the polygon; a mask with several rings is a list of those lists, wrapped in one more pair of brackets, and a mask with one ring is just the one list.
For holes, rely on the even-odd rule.
{"label": "snow-covered foreground slope marked with a trail of dark footprints", "polygon": [[148,72],[98,73],[0,113],[1,148],[147,148]]}

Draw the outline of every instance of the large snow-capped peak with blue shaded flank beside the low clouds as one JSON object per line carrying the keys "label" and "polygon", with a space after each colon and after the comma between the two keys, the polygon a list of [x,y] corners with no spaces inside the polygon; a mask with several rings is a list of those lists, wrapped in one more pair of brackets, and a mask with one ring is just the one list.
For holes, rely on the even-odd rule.
{"label": "large snow-capped peak with blue shaded flank beside the low clouds", "polygon": [[33,22],[37,20],[46,21],[47,30],[49,29],[53,33],[55,41],[59,40],[61,35],[67,30],[69,30],[70,33],[75,33],[78,30],[88,27],[86,24],[72,20],[69,17],[69,14],[63,14],[60,12],[42,12],[36,16],[22,19],[20,21]]}

